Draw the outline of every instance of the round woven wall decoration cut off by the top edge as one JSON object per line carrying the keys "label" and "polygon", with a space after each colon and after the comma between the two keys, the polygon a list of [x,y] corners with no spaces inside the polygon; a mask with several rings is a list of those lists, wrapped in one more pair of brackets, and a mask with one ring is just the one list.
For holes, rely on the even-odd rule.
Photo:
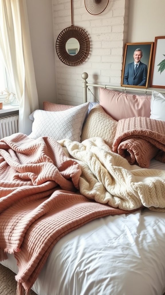
{"label": "round woven wall decoration cut off by the top edge", "polygon": [[85,0],[85,8],[90,14],[100,14],[107,7],[109,0]]}

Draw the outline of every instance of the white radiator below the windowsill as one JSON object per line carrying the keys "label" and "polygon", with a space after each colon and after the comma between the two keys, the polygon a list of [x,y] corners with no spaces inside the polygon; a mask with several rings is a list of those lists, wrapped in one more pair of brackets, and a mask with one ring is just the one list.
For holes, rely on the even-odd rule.
{"label": "white radiator below the windowsill", "polygon": [[18,114],[0,117],[0,139],[18,132]]}

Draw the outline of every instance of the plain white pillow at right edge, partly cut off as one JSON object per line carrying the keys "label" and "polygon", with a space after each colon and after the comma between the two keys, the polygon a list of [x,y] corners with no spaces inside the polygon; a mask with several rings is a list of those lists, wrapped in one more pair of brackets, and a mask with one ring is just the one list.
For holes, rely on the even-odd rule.
{"label": "plain white pillow at right edge, partly cut off", "polygon": [[150,119],[165,121],[165,95],[152,91]]}

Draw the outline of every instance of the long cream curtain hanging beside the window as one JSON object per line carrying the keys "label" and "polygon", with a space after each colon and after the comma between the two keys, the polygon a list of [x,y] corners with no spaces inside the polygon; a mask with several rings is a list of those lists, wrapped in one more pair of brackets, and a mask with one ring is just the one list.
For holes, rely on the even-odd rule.
{"label": "long cream curtain hanging beside the window", "polygon": [[19,132],[29,135],[38,94],[26,0],[0,0],[0,49],[19,102]]}

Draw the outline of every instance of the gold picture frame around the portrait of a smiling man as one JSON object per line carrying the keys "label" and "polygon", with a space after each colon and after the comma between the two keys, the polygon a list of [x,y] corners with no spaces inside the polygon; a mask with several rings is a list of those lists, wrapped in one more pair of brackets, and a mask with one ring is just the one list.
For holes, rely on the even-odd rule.
{"label": "gold picture frame around the portrait of a smiling man", "polygon": [[[143,56],[144,56],[144,48],[146,47],[144,45],[147,45],[147,47],[150,45],[149,53],[148,54],[146,53],[146,57],[145,57],[145,59],[147,59],[147,63],[144,62],[144,63],[147,64],[147,68],[148,68],[146,85],[145,86],[125,85],[123,83],[123,80],[124,80],[124,72],[125,72],[126,66],[129,63],[129,62],[126,63],[126,61],[128,60],[128,55],[129,55],[128,51],[130,51],[132,49],[132,62],[133,62],[134,61],[133,60],[133,53],[134,53],[134,50],[136,50],[137,48],[141,48],[143,50]],[[125,45],[125,52],[124,52],[124,60],[123,60],[123,68],[122,68],[121,86],[127,86],[127,87],[129,86],[129,87],[134,87],[134,88],[147,88],[148,81],[149,81],[149,74],[150,74],[151,57],[152,57],[153,47],[154,47],[153,45],[154,45],[154,42],[126,43],[126,45]]]}

